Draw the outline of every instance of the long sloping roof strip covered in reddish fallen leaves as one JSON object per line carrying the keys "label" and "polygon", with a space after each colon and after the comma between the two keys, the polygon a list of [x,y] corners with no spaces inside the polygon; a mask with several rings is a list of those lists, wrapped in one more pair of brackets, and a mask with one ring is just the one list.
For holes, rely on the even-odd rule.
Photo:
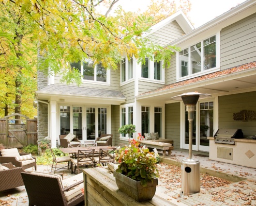
{"label": "long sloping roof strip covered in reddish fallen leaves", "polygon": [[229,75],[229,74],[240,72],[240,71],[243,71],[243,70],[249,70],[249,69],[255,68],[255,67],[256,67],[256,61],[251,62],[251,63],[247,63],[247,64],[243,64],[243,65],[240,65],[240,66],[236,66],[236,67],[233,67],[233,68],[228,68],[227,70],[222,70],[222,71],[202,75],[200,77],[195,77],[195,78],[192,78],[192,79],[188,79],[188,80],[168,84],[168,85],[165,85],[164,87],[157,88],[155,90],[142,93],[139,96],[143,96],[145,94],[153,94],[153,93],[157,93],[157,92],[160,92],[160,91],[169,90],[169,89],[172,89],[172,88],[177,88],[177,87],[180,87],[180,86],[184,86],[184,85],[187,85],[187,84],[190,84],[190,83],[203,81],[203,80],[206,80],[206,79],[218,78],[220,76]]}

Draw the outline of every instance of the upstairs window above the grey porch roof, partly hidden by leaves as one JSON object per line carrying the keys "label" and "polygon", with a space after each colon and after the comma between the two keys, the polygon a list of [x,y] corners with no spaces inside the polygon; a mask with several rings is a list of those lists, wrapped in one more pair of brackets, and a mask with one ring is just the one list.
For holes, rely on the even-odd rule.
{"label": "upstairs window above the grey porch roof, partly hidden by leaves", "polygon": [[70,65],[81,71],[84,80],[107,82],[108,71],[101,65],[101,63],[94,66],[93,61],[86,60],[83,62],[72,62]]}

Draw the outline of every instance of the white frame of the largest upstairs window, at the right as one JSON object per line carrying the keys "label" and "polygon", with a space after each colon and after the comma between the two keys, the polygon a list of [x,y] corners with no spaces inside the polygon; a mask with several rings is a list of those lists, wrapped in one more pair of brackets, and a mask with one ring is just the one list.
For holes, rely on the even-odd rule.
{"label": "white frame of the largest upstairs window, at the right", "polygon": [[[216,67],[214,68],[209,68],[208,70],[203,70],[202,67],[203,67],[203,41],[206,40],[207,38],[210,38],[210,37],[213,37],[215,36],[215,42],[216,42]],[[192,67],[191,67],[191,51],[190,51],[190,47],[194,44],[197,44],[201,42],[201,62],[202,62],[202,65],[201,65],[201,72],[198,72],[198,73],[194,73],[192,74]],[[212,35],[209,35],[208,37],[205,37],[205,38],[202,38],[201,41],[197,41],[195,43],[192,43],[186,47],[184,47],[183,49],[181,50],[184,50],[188,48],[188,75],[187,76],[184,76],[182,77],[181,76],[181,67],[180,67],[180,64],[182,61],[185,61],[185,60],[182,60],[179,58],[179,52],[176,52],[176,79],[177,81],[183,81],[183,80],[186,80],[186,79],[191,79],[193,77],[197,77],[197,76],[202,76],[204,74],[209,74],[209,73],[213,73],[213,72],[216,72],[216,71],[219,71],[220,70],[220,32],[218,31],[217,33],[214,33]]]}

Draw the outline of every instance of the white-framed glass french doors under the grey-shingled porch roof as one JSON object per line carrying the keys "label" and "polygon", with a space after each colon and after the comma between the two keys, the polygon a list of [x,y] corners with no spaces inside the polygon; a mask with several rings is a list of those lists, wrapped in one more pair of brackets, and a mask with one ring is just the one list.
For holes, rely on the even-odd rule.
{"label": "white-framed glass french doors under the grey-shingled porch roof", "polygon": [[95,140],[107,134],[108,107],[59,106],[61,134],[69,132],[79,140]]}

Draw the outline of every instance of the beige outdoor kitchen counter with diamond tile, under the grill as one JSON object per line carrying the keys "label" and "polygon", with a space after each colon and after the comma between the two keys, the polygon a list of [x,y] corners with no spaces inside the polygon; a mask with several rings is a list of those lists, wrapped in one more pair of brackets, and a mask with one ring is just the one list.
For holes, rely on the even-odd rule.
{"label": "beige outdoor kitchen counter with diamond tile, under the grill", "polygon": [[241,166],[256,168],[256,140],[249,138],[234,139],[235,144],[215,143],[209,140],[209,160],[216,160]]}

